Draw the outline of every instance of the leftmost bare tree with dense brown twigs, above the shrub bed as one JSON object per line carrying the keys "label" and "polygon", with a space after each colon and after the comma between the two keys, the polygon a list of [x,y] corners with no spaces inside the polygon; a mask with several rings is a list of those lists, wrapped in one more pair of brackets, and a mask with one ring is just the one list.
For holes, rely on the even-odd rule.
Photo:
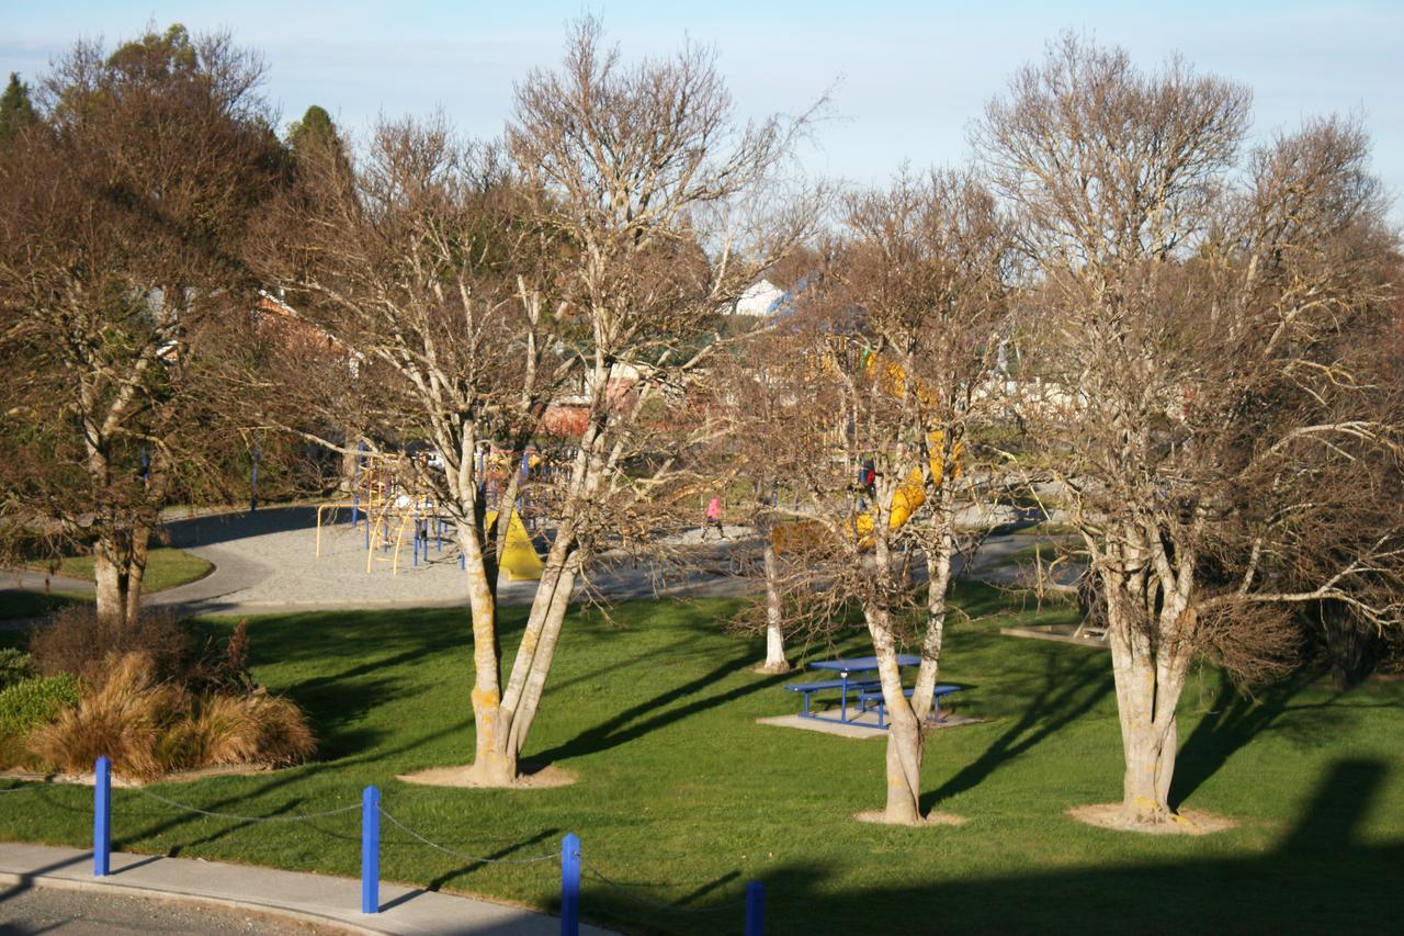
{"label": "leftmost bare tree with dense brown twigs, above the shrub bed", "polygon": [[261,73],[181,27],[79,44],[0,155],[7,530],[91,544],[108,618],[136,614],[160,507],[236,437],[216,405],[251,295],[234,245],[282,160]]}

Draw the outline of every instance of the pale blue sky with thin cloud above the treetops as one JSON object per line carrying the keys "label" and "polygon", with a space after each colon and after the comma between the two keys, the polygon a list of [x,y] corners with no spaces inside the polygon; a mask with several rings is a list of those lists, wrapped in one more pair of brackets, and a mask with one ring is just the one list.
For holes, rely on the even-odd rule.
{"label": "pale blue sky with thin cloud above the treetops", "polygon": [[32,80],[79,38],[111,46],[147,22],[184,22],[227,30],[261,52],[265,94],[285,122],[320,104],[355,138],[380,114],[441,108],[463,134],[494,136],[514,82],[557,62],[566,25],[587,11],[626,58],[667,53],[685,38],[713,46],[743,117],[800,112],[828,93],[803,162],[859,184],[879,184],[904,162],[967,159],[970,121],[1064,30],[1123,46],[1143,69],[1179,53],[1254,90],[1258,139],[1318,114],[1363,115],[1375,171],[1404,223],[1404,0],[0,0],[0,77]]}

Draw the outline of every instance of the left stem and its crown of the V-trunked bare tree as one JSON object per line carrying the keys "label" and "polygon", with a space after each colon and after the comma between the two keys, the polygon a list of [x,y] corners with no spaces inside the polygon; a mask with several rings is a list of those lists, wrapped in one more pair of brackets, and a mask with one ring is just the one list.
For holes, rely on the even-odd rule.
{"label": "left stem and its crown of the V-trunked bare tree", "polygon": [[[417,440],[435,457],[416,481],[452,520],[463,554],[475,763],[503,783],[515,767],[486,765],[505,731],[497,578],[508,512],[489,512],[480,453],[521,451],[569,371],[543,264],[570,247],[524,222],[515,186],[498,150],[455,142],[441,121],[382,124],[358,166],[313,142],[298,186],[264,218],[254,260],[286,315],[334,344],[329,354],[282,342],[270,401],[285,406],[270,419],[347,454]],[[508,472],[498,502],[514,503],[519,483]]]}

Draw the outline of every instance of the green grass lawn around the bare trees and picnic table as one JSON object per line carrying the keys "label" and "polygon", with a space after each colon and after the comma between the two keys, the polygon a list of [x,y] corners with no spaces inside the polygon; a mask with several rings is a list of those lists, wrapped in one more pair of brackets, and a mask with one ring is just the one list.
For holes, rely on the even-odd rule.
{"label": "green grass lawn around the bare trees and picnic table", "polygon": [[[562,637],[528,758],[578,776],[553,790],[448,790],[399,773],[472,756],[462,613],[396,610],[250,621],[256,676],[305,706],[322,760],[156,790],[204,810],[292,817],[359,801],[473,856],[525,859],[583,840],[583,915],[626,932],[740,932],[731,904],[765,881],[771,933],[1383,932],[1401,909],[1404,686],[1351,694],[1299,680],[1248,703],[1212,670],[1182,708],[1175,800],[1234,817],[1209,836],[1080,825],[1070,805],[1119,797],[1120,745],[1105,652],[1001,637],[993,589],[959,600],[942,680],[979,725],[927,743],[927,805],[959,828],[861,825],[882,804],[883,742],[755,724],[796,711],[785,677],[747,672],[754,639],[723,635],[729,602],[576,614]],[[986,616],[986,617],[981,617]],[[507,611],[511,648],[522,611]],[[1032,616],[1022,616],[1032,623]],[[1040,620],[1070,618],[1068,611]],[[213,623],[223,628],[227,623]],[[855,639],[814,656],[861,652]],[[24,804],[22,807],[20,804]],[[91,791],[0,800],[0,838],[86,846]],[[114,791],[115,846],[355,876],[355,812],[237,822]],[[479,864],[383,829],[386,880],[553,909],[559,869]],[[647,902],[639,901],[643,894]],[[1389,921],[1394,919],[1394,923]]]}

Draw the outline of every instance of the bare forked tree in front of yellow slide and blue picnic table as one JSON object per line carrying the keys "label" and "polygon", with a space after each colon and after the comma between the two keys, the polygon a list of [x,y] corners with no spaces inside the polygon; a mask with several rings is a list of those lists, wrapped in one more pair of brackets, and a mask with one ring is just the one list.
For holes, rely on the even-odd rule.
{"label": "bare forked tree in front of yellow slide and blue picnic table", "polygon": [[[799,552],[786,594],[797,621],[826,631],[851,604],[879,662],[890,714],[886,822],[921,821],[925,721],[945,631],[958,506],[986,496],[988,472],[973,429],[997,417],[991,385],[1008,336],[1008,238],[994,200],[966,173],[901,174],[851,195],[848,238],[828,252],[807,320],[776,333],[790,346],[788,406],[757,413],[755,453],[797,492],[776,530]],[[782,461],[776,461],[776,453]],[[873,478],[859,479],[870,465]],[[925,558],[915,603],[910,562]],[[920,610],[918,610],[920,609]],[[920,648],[910,697],[899,651]]]}

